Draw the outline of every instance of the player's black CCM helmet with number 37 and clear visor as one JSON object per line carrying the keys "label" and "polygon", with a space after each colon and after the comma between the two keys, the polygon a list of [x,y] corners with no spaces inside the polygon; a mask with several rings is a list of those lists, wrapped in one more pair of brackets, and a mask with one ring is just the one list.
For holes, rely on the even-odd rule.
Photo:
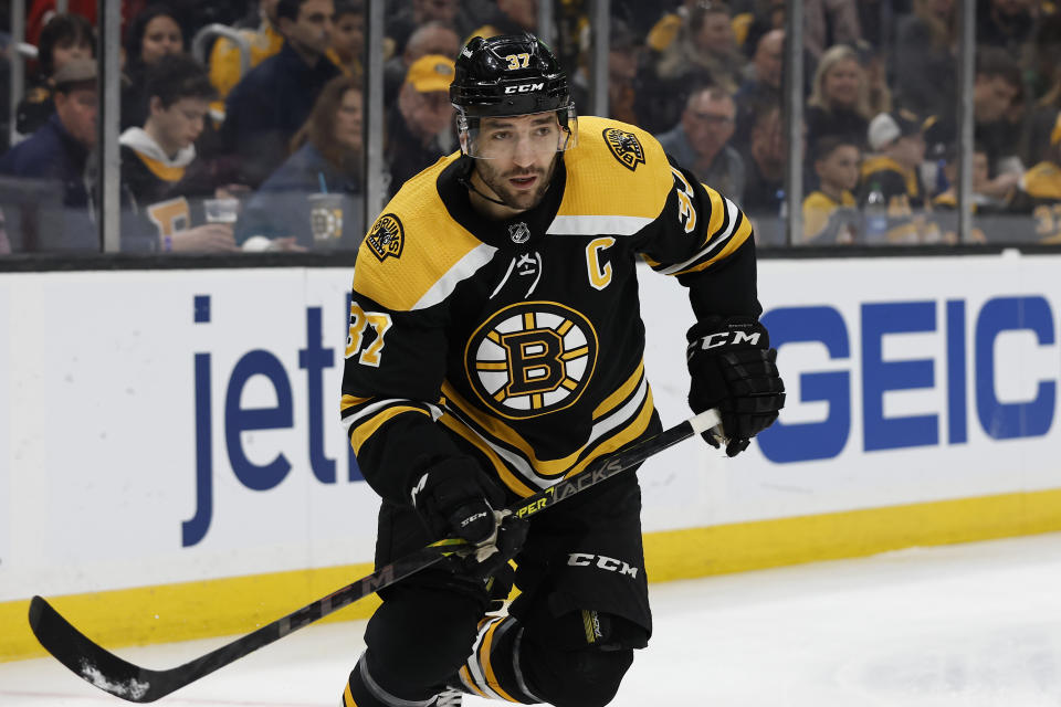
{"label": "player's black CCM helmet with number 37 and clear visor", "polygon": [[456,57],[450,103],[456,108],[462,145],[469,130],[477,129],[480,118],[548,110],[556,112],[567,134],[558,149],[575,145],[578,124],[567,74],[530,32],[469,40]]}

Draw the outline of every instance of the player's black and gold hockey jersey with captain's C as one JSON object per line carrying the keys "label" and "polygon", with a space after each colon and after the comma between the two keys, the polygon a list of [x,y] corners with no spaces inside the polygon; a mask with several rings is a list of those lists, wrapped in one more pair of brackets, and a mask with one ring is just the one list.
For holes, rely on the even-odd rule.
{"label": "player's black and gold hockey jersey with captain's C", "polygon": [[357,255],[342,416],[397,503],[441,458],[528,496],[659,430],[639,258],[697,318],[761,312],[750,222],[641,129],[579,118],[542,203],[506,221],[472,209],[472,167],[452,155],[409,180]]}

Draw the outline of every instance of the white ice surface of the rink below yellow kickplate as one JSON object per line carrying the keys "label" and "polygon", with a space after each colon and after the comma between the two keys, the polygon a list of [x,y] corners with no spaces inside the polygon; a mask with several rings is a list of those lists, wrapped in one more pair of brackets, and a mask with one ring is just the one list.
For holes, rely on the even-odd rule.
{"label": "white ice surface of the rink below yellow kickplate", "polygon": [[[651,590],[652,644],[612,707],[1061,706],[1058,534]],[[335,707],[363,630],[311,626],[158,704]],[[224,642],[117,653],[168,668]],[[120,704],[50,658],[0,664],[4,707]]]}

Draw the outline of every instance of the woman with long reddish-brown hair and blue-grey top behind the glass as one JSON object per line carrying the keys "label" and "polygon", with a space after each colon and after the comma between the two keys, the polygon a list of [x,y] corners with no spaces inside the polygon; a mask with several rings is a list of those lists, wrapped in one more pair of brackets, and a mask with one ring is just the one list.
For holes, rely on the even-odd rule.
{"label": "woman with long reddish-brown hair and blue-grey top behind the glass", "polygon": [[343,234],[334,246],[358,246],[364,234],[361,108],[358,78],[339,76],[328,82],[292,140],[292,156],[248,202],[237,224],[240,243],[259,235],[273,242],[270,250],[277,250],[277,239],[313,247],[311,198],[329,193],[342,197]]}

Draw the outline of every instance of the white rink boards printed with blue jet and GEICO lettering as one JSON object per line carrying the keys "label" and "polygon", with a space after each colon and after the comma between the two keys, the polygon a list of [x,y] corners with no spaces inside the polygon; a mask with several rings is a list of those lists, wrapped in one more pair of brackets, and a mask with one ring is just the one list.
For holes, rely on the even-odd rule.
{"label": "white rink boards printed with blue jet and GEICO lettering", "polygon": [[[761,262],[786,410],[736,460],[650,460],[645,528],[1061,486],[1059,265]],[[350,276],[0,278],[0,600],[370,560],[378,500],[337,420]],[[691,314],[647,268],[641,294],[671,425]]]}

